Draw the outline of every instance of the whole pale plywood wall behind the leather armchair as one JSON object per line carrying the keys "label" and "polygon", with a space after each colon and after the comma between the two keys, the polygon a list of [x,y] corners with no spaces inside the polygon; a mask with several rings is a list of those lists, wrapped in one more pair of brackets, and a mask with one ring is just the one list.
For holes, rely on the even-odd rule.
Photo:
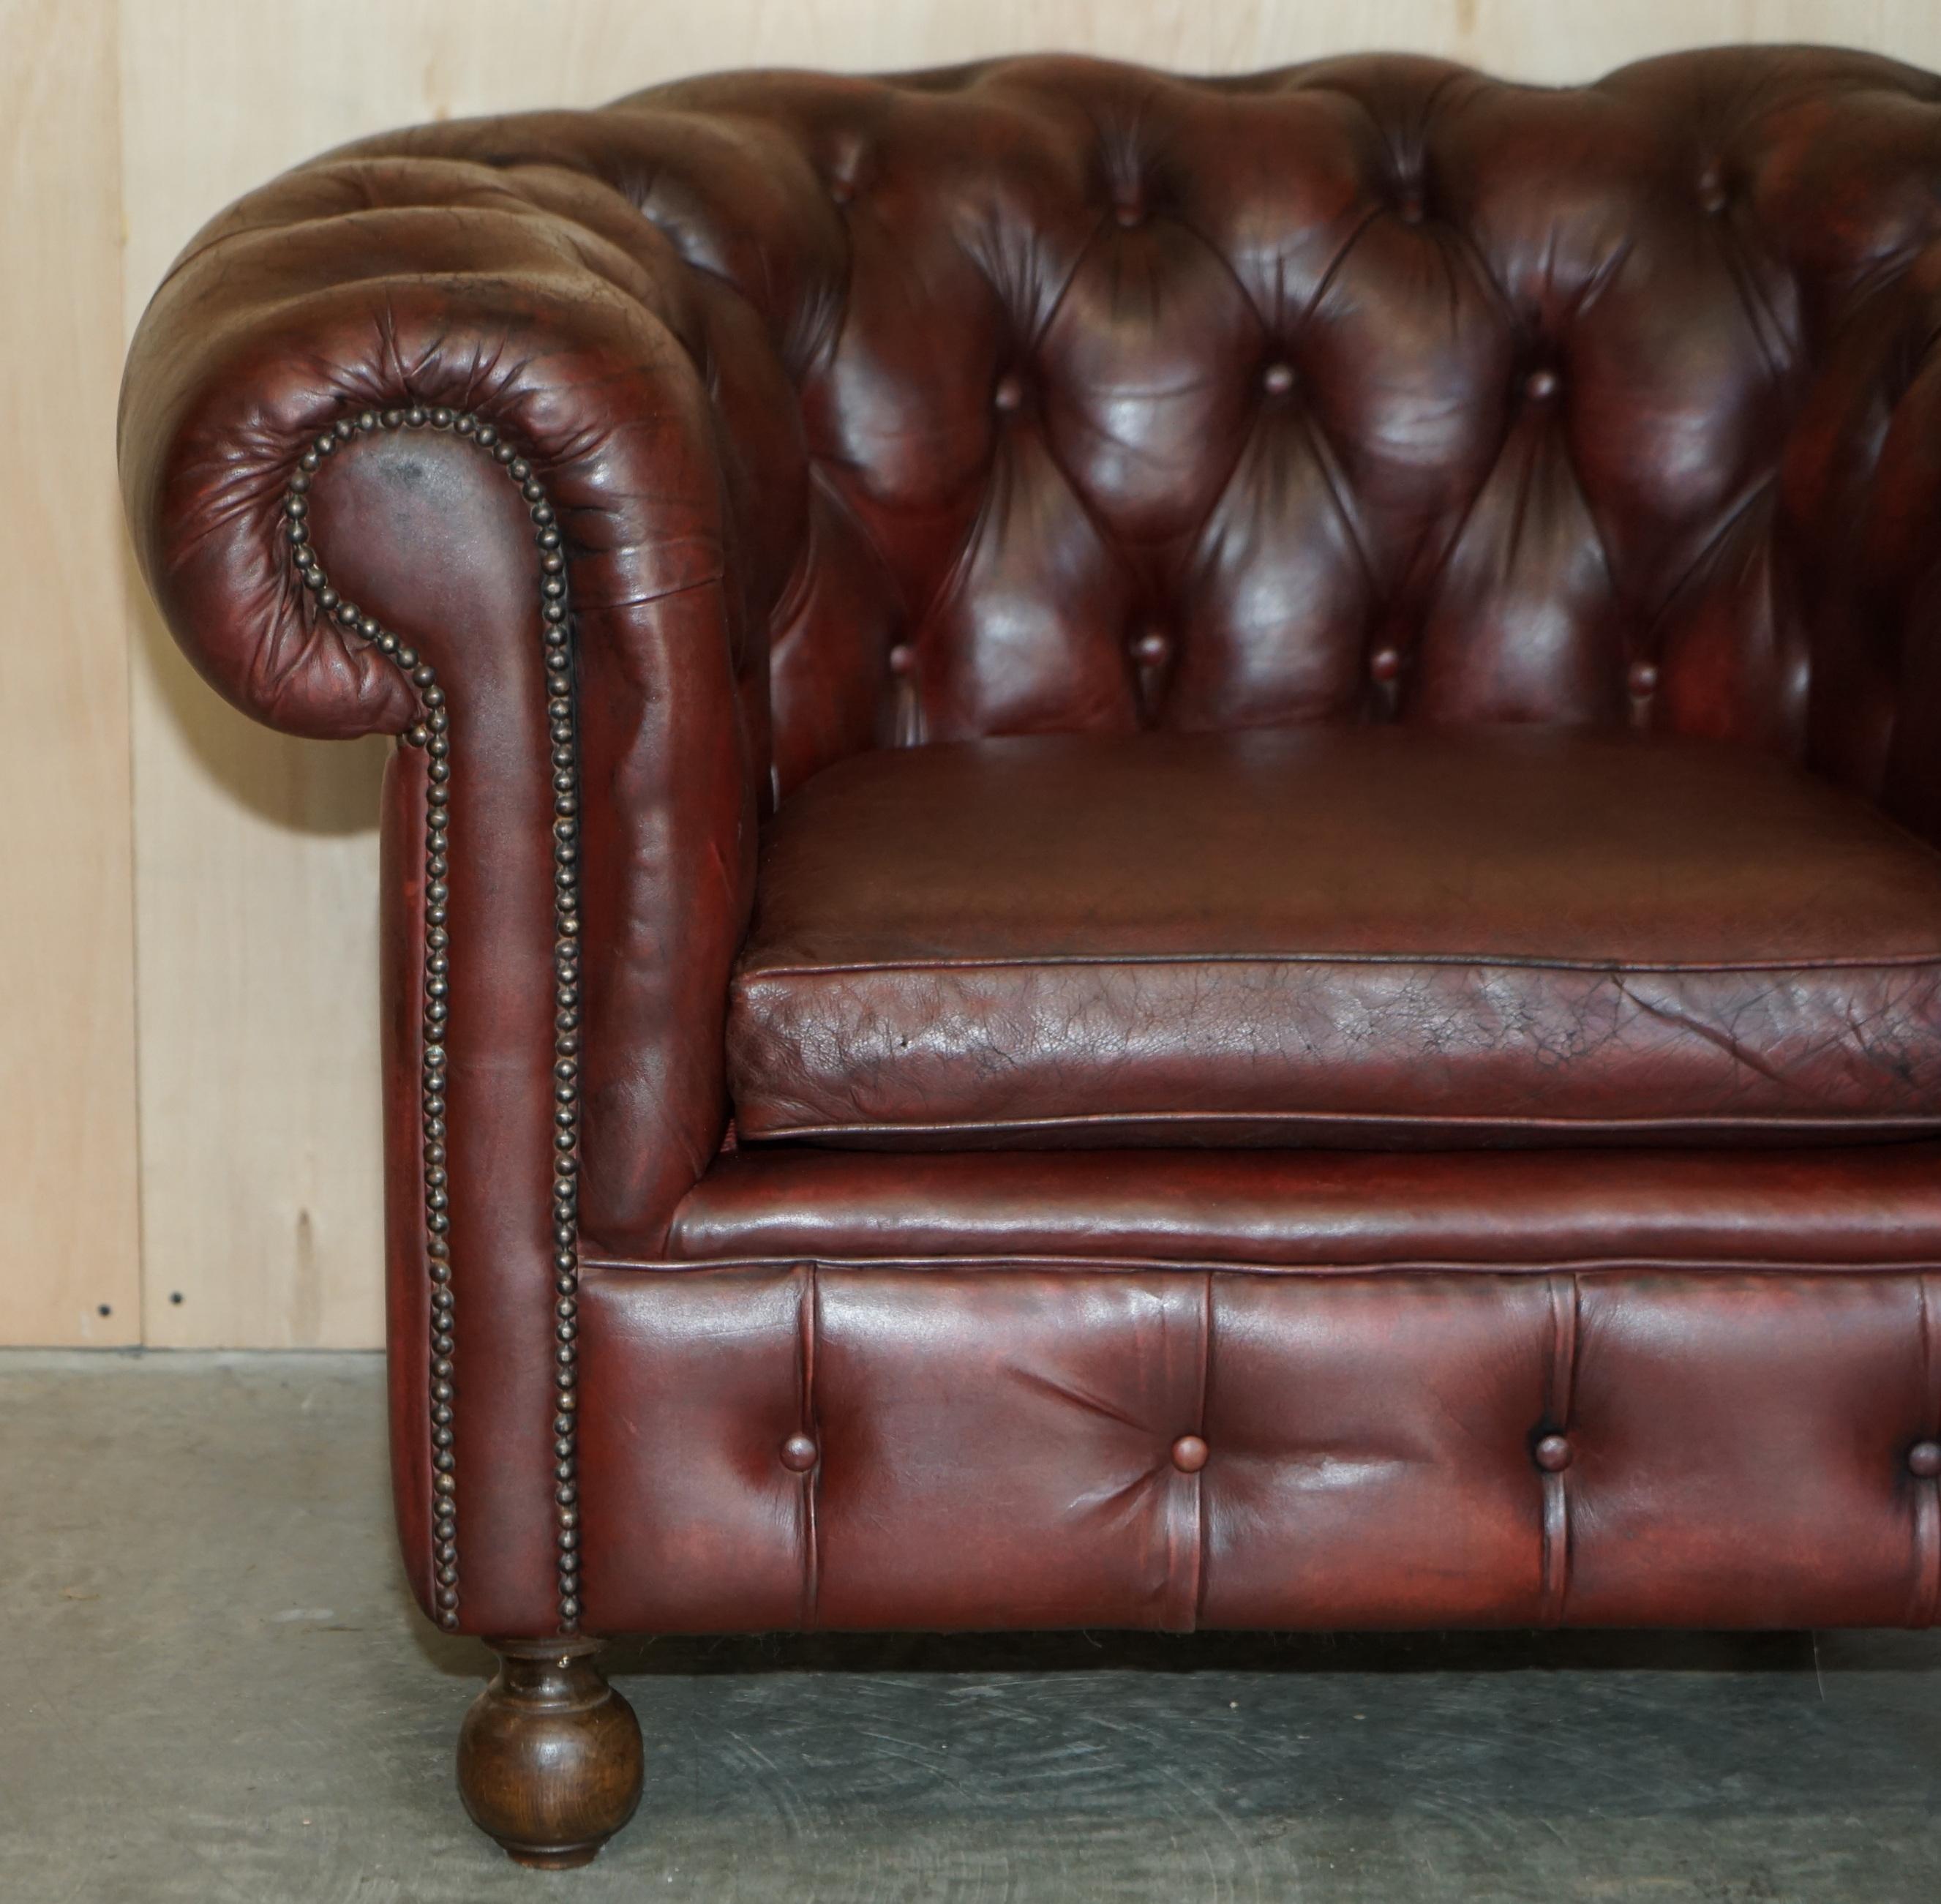
{"label": "whole pale plywood wall behind the leather armchair", "polygon": [[0,0],[0,1343],[367,1345],[380,745],[248,726],[128,567],[128,328],[237,192],[361,132],[736,64],[1405,47],[1574,80],[1937,0]]}

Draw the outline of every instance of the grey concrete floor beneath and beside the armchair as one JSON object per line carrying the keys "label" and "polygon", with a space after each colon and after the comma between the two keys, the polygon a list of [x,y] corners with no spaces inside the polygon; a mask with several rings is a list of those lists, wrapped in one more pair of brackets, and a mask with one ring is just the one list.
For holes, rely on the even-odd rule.
{"label": "grey concrete floor beneath and beside the armchair", "polygon": [[452,1789],[375,1357],[0,1355],[0,1896],[1941,1898],[1941,1636],[658,1642],[588,1871]]}

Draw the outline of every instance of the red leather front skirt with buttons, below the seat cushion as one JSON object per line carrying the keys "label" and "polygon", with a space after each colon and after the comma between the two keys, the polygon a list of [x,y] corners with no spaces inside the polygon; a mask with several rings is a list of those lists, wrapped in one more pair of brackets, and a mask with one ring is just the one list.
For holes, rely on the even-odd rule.
{"label": "red leather front skirt with buttons, below the seat cushion", "polygon": [[1927,1625],[1941,1273],[613,1267],[586,1625]]}

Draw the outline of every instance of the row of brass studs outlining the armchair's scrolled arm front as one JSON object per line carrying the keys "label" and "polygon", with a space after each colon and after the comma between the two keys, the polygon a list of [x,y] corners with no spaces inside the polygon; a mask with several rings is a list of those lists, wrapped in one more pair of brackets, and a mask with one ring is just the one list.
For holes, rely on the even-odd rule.
{"label": "row of brass studs outlining the armchair's scrolled arm front", "polygon": [[559,522],[532,464],[468,411],[411,404],[363,410],[326,429],[303,452],[283,495],[291,559],[324,615],[386,654],[417,689],[419,718],[404,739],[429,755],[425,776],[425,976],[421,1116],[425,1128],[425,1256],[431,1265],[431,1465],[433,1555],[439,1625],[458,1626],[458,1461],[452,1436],[454,1298],[450,1174],[446,1168],[446,1050],[450,1029],[450,712],[437,670],[394,633],[345,602],[324,576],[311,545],[311,479],[326,456],[375,431],[448,429],[489,452],[518,483],[540,545],[540,611],[545,656],[545,716],[553,792],[553,1512],[559,1555],[559,1626],[580,1619],[578,1419],[578,1112],[580,1112],[580,899],[578,899],[578,730],[573,714],[573,639],[567,619],[567,563]]}

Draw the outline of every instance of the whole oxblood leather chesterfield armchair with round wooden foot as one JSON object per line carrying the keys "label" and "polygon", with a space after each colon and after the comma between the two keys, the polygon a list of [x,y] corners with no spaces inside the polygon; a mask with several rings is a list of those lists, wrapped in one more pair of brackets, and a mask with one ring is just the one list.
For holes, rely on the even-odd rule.
{"label": "whole oxblood leather chesterfield armchair with round wooden foot", "polygon": [[390,1394],[514,1855],[596,1638],[1925,1625],[1941,82],[699,80],[369,140],[128,367],[398,734]]}

